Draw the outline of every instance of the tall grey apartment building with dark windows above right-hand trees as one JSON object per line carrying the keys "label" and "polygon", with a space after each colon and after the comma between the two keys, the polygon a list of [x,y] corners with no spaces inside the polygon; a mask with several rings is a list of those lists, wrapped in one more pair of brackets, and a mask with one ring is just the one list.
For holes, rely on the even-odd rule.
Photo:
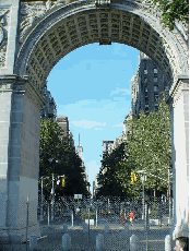
{"label": "tall grey apartment building with dark windows above right-hand trees", "polygon": [[141,109],[149,112],[157,109],[157,98],[167,89],[164,71],[152,59],[140,52],[139,69],[131,80],[131,109],[138,115]]}

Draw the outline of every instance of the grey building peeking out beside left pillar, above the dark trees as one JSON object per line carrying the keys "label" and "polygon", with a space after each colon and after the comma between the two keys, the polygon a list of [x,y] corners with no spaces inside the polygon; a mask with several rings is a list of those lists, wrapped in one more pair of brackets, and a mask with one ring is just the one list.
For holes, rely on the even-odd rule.
{"label": "grey building peeking out beside left pillar, above the dark trees", "polygon": [[40,109],[40,118],[43,120],[51,119],[55,121],[57,117],[57,105],[50,92],[47,89],[47,83],[45,83],[43,88],[43,98],[45,100],[45,106]]}

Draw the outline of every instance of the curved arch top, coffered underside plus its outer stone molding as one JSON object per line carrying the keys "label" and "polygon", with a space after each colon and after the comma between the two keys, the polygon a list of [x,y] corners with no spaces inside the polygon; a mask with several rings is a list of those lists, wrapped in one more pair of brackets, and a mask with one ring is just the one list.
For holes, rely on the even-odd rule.
{"label": "curved arch top, coffered underside plus its outer stone molding", "polygon": [[40,92],[51,69],[70,51],[93,43],[120,43],[152,58],[170,86],[178,74],[188,72],[186,41],[181,34],[163,29],[156,13],[147,15],[138,4],[97,8],[78,1],[47,13],[25,35],[15,74],[28,75]]}

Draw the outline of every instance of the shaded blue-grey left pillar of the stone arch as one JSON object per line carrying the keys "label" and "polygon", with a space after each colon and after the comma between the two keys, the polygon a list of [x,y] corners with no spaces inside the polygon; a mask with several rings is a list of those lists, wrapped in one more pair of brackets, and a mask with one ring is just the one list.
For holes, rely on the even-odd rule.
{"label": "shaded blue-grey left pillar of the stone arch", "polygon": [[0,241],[40,236],[37,223],[40,106],[27,77],[0,76]]}

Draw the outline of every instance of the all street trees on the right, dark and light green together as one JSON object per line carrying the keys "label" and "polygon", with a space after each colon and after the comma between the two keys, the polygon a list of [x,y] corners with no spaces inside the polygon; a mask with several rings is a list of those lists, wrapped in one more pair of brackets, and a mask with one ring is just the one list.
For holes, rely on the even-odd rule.
{"label": "all street trees on the right, dark and light green together", "polygon": [[[166,193],[168,167],[171,167],[171,122],[165,96],[158,103],[157,110],[149,115],[141,111],[139,118],[131,115],[127,120],[126,143],[102,160],[102,169],[106,167],[107,172],[100,172],[103,187],[99,192],[114,189],[114,186],[119,184],[120,191],[126,195],[140,196],[142,180],[139,171],[144,171],[145,190],[156,194]],[[131,172],[138,177],[134,183],[131,183]]]}

